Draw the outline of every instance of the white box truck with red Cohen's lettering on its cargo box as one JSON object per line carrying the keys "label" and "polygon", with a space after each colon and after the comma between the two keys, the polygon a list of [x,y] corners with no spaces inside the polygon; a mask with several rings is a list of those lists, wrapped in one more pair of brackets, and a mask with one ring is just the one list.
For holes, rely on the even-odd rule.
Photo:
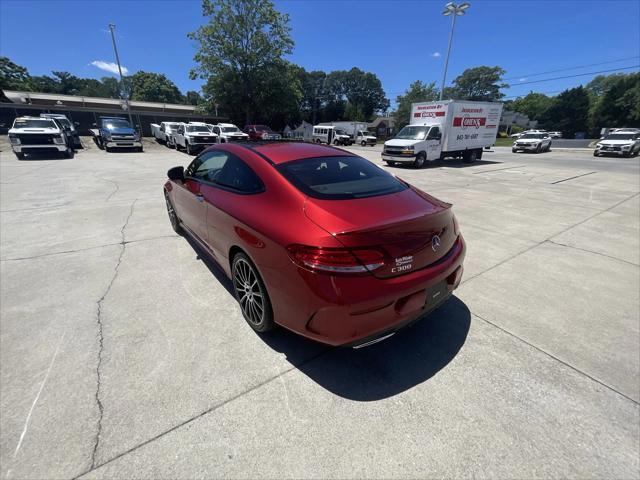
{"label": "white box truck with red Cohen's lettering on its cargo box", "polygon": [[482,149],[496,141],[502,104],[446,100],[411,105],[411,121],[385,142],[382,159],[424,167],[446,157],[466,162],[482,158]]}

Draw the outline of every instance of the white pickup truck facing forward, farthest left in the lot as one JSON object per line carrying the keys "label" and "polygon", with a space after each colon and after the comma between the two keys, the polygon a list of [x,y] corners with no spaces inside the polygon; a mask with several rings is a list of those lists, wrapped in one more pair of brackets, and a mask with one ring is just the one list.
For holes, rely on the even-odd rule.
{"label": "white pickup truck facing forward, farthest left in the lot", "polygon": [[17,117],[9,129],[11,150],[19,160],[31,153],[62,153],[73,158],[73,142],[52,118]]}

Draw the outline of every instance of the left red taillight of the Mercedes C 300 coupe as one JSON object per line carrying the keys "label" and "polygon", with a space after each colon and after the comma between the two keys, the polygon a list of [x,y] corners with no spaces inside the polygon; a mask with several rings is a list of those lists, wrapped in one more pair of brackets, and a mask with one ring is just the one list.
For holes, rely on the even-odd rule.
{"label": "left red taillight of the Mercedes C 300 coupe", "polygon": [[366,273],[384,265],[384,253],[373,248],[323,248],[307,245],[287,247],[291,259],[311,270],[326,273]]}

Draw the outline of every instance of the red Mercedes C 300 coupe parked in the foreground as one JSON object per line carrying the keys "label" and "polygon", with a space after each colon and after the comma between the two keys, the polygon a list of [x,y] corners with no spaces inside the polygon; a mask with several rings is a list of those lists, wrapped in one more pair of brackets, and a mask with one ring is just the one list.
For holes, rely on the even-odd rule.
{"label": "red Mercedes C 300 coupe parked in the foreground", "polygon": [[233,282],[249,325],[361,347],[440,306],[462,277],[451,205],[346,151],[207,149],[168,172],[171,225]]}

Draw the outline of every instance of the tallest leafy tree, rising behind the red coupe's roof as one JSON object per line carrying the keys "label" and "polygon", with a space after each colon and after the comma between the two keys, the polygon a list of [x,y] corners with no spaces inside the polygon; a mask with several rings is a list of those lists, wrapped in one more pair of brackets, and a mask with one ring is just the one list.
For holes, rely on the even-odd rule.
{"label": "tallest leafy tree, rising behind the red coupe's roof", "polygon": [[[242,114],[250,123],[268,97],[260,91],[264,75],[293,49],[289,16],[269,0],[203,0],[202,11],[208,23],[188,35],[199,45],[191,76],[207,80],[210,99],[224,99],[232,118]],[[278,100],[286,99],[269,99]]]}

